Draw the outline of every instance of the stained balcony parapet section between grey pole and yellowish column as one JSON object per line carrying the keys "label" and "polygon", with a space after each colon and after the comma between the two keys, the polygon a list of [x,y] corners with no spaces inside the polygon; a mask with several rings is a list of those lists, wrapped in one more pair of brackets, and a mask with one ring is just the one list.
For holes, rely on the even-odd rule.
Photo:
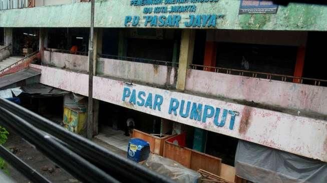
{"label": "stained balcony parapet section between grey pole and yellowish column", "polygon": [[139,63],[117,59],[99,58],[97,74],[146,82],[149,84],[175,84],[176,68],[149,63]]}

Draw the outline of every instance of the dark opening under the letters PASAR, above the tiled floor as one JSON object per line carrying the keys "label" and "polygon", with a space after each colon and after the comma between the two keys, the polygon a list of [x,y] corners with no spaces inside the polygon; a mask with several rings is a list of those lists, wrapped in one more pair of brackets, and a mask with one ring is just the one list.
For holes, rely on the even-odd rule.
{"label": "dark opening under the letters PASAR, above the tiled floor", "polygon": [[133,118],[135,129],[146,133],[160,133],[161,118],[133,109],[100,101],[99,103],[99,131],[104,126],[126,130],[126,121]]}

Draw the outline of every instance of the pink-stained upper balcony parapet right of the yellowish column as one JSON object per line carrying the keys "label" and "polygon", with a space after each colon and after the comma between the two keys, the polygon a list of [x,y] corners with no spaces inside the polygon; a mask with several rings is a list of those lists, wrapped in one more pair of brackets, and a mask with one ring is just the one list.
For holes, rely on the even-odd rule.
{"label": "pink-stained upper balcony parapet right of the yellowish column", "polygon": [[188,69],[186,90],[327,114],[327,87]]}

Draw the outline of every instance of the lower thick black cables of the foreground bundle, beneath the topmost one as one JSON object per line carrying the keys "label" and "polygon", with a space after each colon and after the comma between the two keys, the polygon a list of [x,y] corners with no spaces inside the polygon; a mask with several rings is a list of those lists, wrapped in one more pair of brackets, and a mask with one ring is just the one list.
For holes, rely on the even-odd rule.
{"label": "lower thick black cables of the foreground bundle, beneath the topmost one", "polygon": [[41,152],[83,182],[119,182],[102,169],[58,142],[56,137],[36,128],[9,110],[0,107],[0,123],[27,138]]}

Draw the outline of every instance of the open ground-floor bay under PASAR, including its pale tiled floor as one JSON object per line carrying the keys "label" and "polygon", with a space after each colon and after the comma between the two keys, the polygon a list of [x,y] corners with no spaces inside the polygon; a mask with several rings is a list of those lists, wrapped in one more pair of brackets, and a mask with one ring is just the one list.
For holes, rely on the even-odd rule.
{"label": "open ground-floor bay under PASAR, including its pale tiled floor", "polygon": [[[127,151],[133,129],[160,133],[161,118],[112,103],[99,103],[99,134],[96,138]],[[171,131],[170,131],[171,132]]]}

